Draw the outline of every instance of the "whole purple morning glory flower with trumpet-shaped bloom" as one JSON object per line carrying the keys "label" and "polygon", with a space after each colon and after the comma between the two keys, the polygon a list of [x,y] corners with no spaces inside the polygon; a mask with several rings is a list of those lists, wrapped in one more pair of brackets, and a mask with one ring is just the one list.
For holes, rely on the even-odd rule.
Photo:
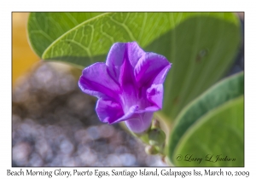
{"label": "whole purple morning glory flower with trumpet-shaped bloom", "polygon": [[136,42],[114,43],[106,63],[84,68],[79,87],[98,98],[96,113],[102,122],[125,121],[131,131],[142,133],[162,108],[163,83],[171,65]]}

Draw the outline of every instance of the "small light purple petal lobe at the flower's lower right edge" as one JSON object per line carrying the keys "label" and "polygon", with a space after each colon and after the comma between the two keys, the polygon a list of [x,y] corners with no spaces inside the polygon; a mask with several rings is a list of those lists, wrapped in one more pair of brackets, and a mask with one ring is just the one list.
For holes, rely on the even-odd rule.
{"label": "small light purple petal lobe at the flower's lower right edge", "polygon": [[147,90],[148,101],[153,103],[159,109],[162,108],[164,88],[163,84],[152,84],[151,87]]}

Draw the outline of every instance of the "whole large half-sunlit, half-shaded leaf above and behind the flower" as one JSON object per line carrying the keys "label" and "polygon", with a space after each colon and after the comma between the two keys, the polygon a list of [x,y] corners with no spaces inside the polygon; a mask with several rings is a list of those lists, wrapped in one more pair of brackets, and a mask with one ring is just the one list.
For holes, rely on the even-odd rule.
{"label": "whole large half-sunlit, half-shaded leaf above and behind the flower", "polygon": [[[113,43],[128,41],[165,55],[173,65],[166,78],[161,115],[169,121],[223,76],[240,41],[239,21],[231,13],[103,13],[67,32],[68,28],[58,32],[57,27],[63,23],[58,20],[54,20],[53,30],[47,26],[54,18],[50,14],[41,14],[40,18],[34,14],[32,19],[31,14],[28,35],[32,44],[38,44],[32,45],[36,52],[44,50],[44,60],[65,61],[83,68],[105,61]],[[44,35],[38,38],[31,28],[41,22],[46,34],[57,33],[56,38],[62,33],[61,37],[50,44]]]}

